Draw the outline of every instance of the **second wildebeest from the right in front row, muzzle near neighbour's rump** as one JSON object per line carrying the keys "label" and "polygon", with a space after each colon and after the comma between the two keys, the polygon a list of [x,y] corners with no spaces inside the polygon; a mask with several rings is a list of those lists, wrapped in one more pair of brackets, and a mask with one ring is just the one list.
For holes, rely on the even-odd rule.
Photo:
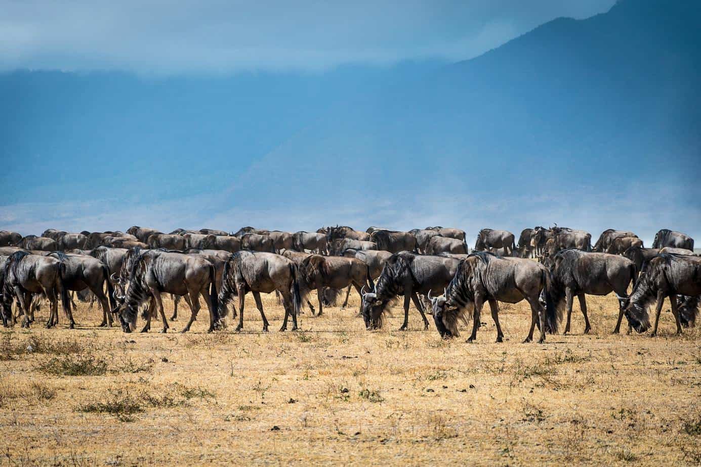
{"label": "second wildebeest from the right in front row, muzzle near neighbour's rump", "polygon": [[620,321],[623,317],[623,307],[628,295],[628,284],[636,284],[638,275],[637,267],[628,258],[608,253],[591,253],[578,249],[566,249],[559,251],[552,258],[550,269],[552,287],[550,288],[551,304],[548,305],[548,314],[555,307],[558,316],[564,313],[566,305],[567,322],[564,333],[570,331],[572,316],[572,302],[576,296],[579,299],[579,307],[584,315],[587,334],[592,330],[587,316],[587,302],[585,295],[608,295],[614,292],[618,297],[618,322],[613,333],[620,331]]}

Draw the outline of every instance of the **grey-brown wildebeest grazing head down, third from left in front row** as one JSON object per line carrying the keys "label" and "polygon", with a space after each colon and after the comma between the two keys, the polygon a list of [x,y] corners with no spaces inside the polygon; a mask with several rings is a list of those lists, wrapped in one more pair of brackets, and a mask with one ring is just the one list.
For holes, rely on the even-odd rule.
{"label": "grey-brown wildebeest grazing head down, third from left in front row", "polygon": [[[119,315],[122,330],[130,333],[136,329],[137,310],[147,300],[154,300],[163,319],[165,333],[170,326],[165,319],[161,293],[174,295],[188,295],[187,304],[191,306],[190,321],[182,332],[190,330],[193,321],[200,311],[199,295],[207,304],[210,312],[209,331],[215,329],[219,321],[217,306],[217,272],[215,266],[205,258],[198,255],[186,255],[184,253],[172,253],[170,251],[149,250],[135,256],[129,272],[129,286],[123,297],[121,305],[113,310]],[[151,316],[153,313],[145,309],[142,318],[147,320],[141,332],[145,333],[151,328]]]}

